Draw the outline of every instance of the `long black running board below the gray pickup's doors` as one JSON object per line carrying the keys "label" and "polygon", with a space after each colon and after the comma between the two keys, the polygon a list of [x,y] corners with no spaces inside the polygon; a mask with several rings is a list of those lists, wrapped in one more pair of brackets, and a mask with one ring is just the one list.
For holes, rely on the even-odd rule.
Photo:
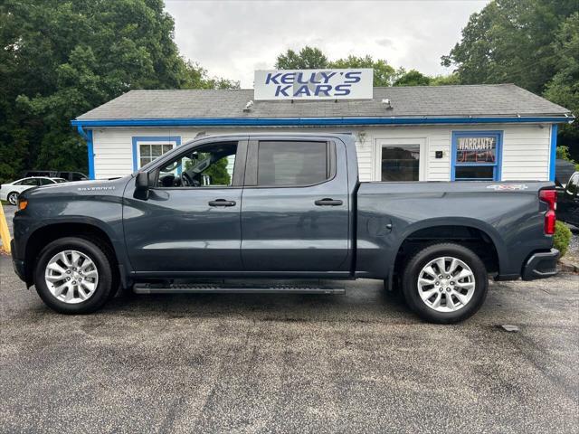
{"label": "long black running board below the gray pickup's doors", "polygon": [[[316,284],[313,284],[316,283]],[[337,288],[336,282],[199,282],[199,283],[136,283],[136,294],[345,294],[346,288]]]}

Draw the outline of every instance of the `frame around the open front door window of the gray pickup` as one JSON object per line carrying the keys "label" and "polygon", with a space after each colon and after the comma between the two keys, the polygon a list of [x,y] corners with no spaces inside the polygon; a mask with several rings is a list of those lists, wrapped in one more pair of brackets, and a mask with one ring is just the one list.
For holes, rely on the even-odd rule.
{"label": "frame around the open front door window of the gray pickup", "polygon": [[[166,165],[171,160],[183,158],[186,154],[190,154],[197,150],[203,150],[205,147],[219,145],[221,143],[231,143],[237,142],[237,149],[235,151],[235,162],[233,163],[233,174],[232,174],[232,184],[231,185],[202,185],[195,187],[195,185],[188,185],[188,186],[173,186],[173,187],[163,187],[158,185],[158,178],[160,174],[160,169],[163,165]],[[171,151],[169,151],[171,154]],[[243,180],[243,169],[245,165],[245,155],[247,153],[247,140],[242,139],[232,139],[232,140],[213,140],[207,141],[204,143],[195,144],[195,146],[183,146],[181,152],[176,153],[174,156],[169,156],[169,153],[164,155],[164,158],[157,158],[155,160],[155,165],[152,165],[150,168],[147,169],[147,173],[151,174],[154,173],[155,177],[153,180],[150,180],[149,188],[151,190],[210,190],[210,189],[223,189],[223,188],[240,188],[242,187],[242,180]],[[233,155],[233,154],[232,154]]]}

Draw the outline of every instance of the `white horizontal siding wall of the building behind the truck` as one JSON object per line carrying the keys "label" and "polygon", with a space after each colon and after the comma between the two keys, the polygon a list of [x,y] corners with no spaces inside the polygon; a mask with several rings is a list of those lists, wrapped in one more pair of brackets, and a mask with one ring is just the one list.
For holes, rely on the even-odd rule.
{"label": "white horizontal siding wall of the building behind the truck", "polygon": [[[100,128],[93,132],[94,164],[97,178],[123,176],[133,172],[132,137],[178,136],[181,143],[195,138],[201,132],[222,134],[235,132],[348,132],[356,136],[358,166],[361,181],[379,178],[375,170],[375,158],[380,151],[376,145],[382,138],[417,138],[426,143],[427,181],[451,179],[451,136],[452,131],[503,131],[502,179],[548,180],[549,177],[549,125],[473,125],[473,126],[384,126],[384,127],[299,127],[299,128]],[[442,158],[435,152],[442,151]]]}

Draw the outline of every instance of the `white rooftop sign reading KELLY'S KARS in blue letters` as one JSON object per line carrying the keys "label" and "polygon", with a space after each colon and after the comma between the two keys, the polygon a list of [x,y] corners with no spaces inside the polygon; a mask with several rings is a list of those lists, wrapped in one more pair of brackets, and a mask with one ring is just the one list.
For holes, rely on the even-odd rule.
{"label": "white rooftop sign reading KELLY'S KARS in blue letters", "polygon": [[372,99],[373,80],[371,68],[255,71],[253,99]]}

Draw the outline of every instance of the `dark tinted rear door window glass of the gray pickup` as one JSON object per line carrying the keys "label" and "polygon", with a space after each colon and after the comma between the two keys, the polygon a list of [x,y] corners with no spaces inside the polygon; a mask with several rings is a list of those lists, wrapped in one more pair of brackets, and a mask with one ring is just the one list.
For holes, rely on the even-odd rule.
{"label": "dark tinted rear door window glass of the gray pickup", "polygon": [[327,142],[268,142],[258,148],[258,185],[311,185],[329,178]]}

